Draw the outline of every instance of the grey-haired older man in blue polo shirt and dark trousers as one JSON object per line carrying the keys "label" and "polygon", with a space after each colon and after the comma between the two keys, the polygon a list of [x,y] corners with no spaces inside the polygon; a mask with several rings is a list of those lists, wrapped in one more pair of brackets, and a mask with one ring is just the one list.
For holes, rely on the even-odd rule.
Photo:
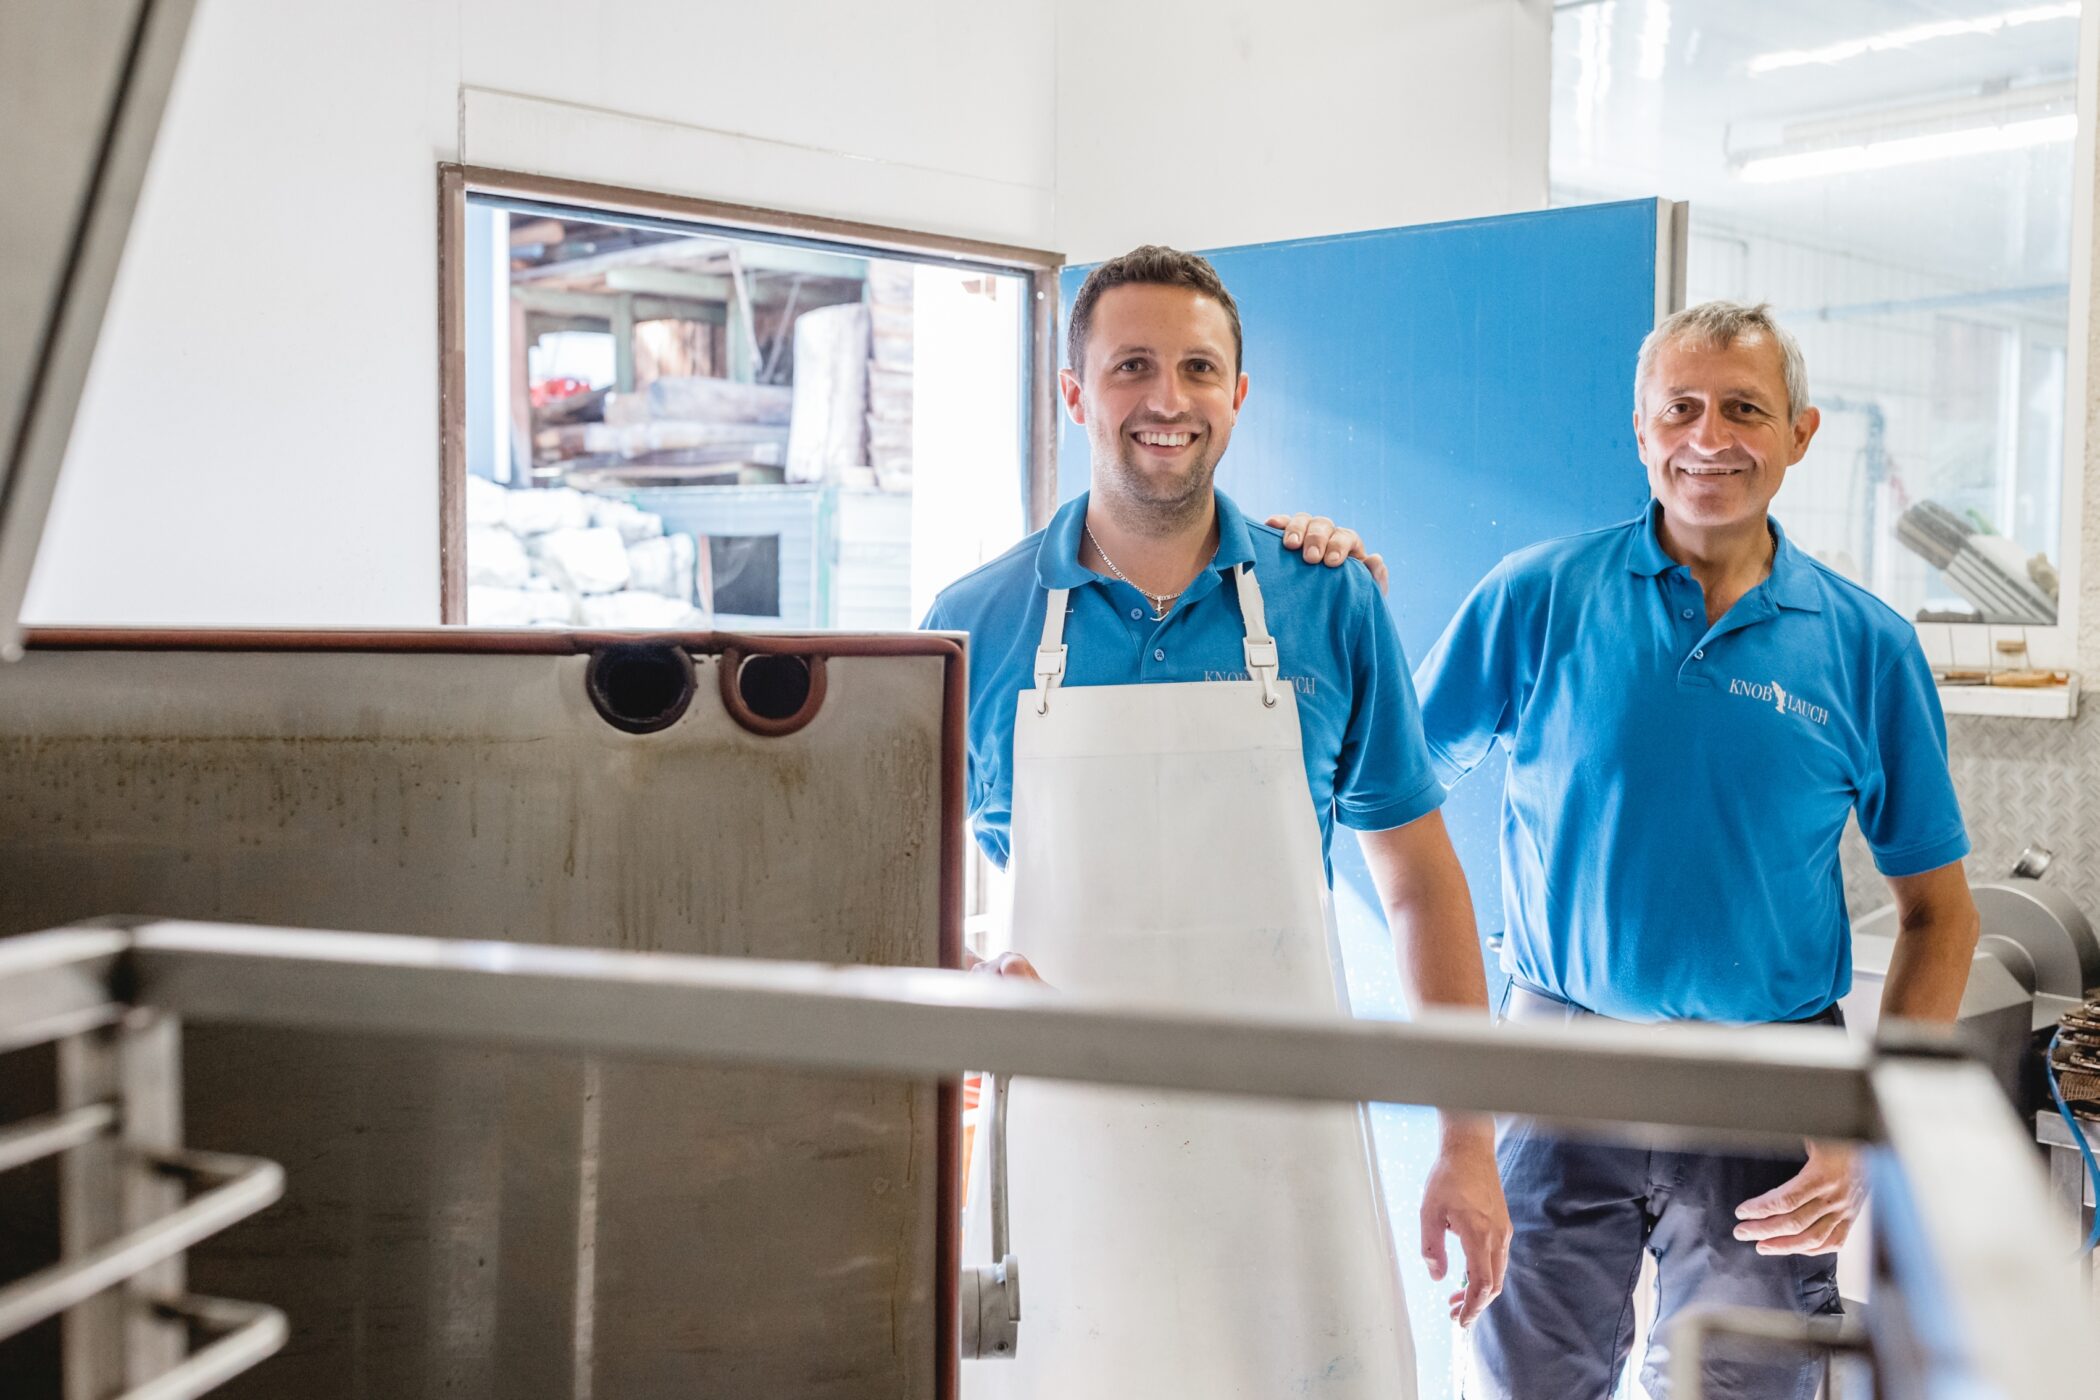
{"label": "grey-haired older man in blue polo shirt and dark trousers", "polygon": [[[1819,424],[1762,306],[1663,321],[1636,367],[1648,508],[1518,550],[1415,686],[1447,783],[1508,749],[1502,961],[1510,1018],[1838,1022],[1852,984],[1838,844],[1856,816],[1903,913],[1884,1016],[1951,1020],[1976,947],[1947,728],[1911,625],[1766,512]],[[1852,1154],[1567,1142],[1516,1123],[1516,1238],[1468,1396],[1602,1400],[1657,1259],[1642,1383],[1695,1303],[1838,1312]],[[1707,1396],[1814,1394],[1808,1358],[1730,1352]]]}

